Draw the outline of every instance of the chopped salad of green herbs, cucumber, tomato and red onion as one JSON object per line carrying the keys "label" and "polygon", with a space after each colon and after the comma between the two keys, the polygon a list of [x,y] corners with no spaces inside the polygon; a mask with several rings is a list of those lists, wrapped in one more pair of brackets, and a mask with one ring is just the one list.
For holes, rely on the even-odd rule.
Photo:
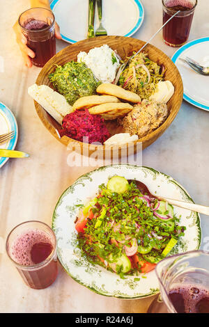
{"label": "chopped salad of green herbs, cucumber, tomato and red onion", "polygon": [[184,235],[167,202],[141,193],[137,183],[111,177],[75,221],[78,246],[93,264],[138,275],[153,270]]}

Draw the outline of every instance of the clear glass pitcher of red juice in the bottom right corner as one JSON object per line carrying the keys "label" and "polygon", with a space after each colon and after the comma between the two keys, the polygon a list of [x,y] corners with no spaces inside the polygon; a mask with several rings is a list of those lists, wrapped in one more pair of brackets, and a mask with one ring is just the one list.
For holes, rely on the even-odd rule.
{"label": "clear glass pitcher of red juice in the bottom right corner", "polygon": [[209,313],[209,252],[173,255],[155,268],[160,296],[148,313]]}

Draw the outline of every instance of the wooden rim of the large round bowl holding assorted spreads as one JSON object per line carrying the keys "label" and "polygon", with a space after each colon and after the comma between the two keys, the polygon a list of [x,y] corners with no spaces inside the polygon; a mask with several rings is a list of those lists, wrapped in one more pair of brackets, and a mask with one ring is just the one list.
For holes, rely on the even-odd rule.
{"label": "wooden rim of the large round bowl holding assorted spreads", "polygon": [[[101,45],[107,44],[109,45],[109,47],[111,47],[112,49],[116,50],[117,48],[113,45],[111,45],[111,43],[120,43],[123,45],[123,42],[129,42],[130,46],[132,45],[136,45],[137,43],[139,43],[139,49],[140,47],[142,47],[145,42],[142,40],[138,40],[138,39],[134,39],[134,38],[130,38],[130,37],[125,37],[125,36],[100,36],[98,38],[91,38],[91,39],[86,39],[86,40],[82,40],[79,42],[76,42],[72,45],[68,45],[68,47],[65,47],[64,49],[62,49],[61,51],[59,51],[55,56],[53,56],[46,64],[44,67],[42,67],[42,70],[40,71],[40,73],[38,74],[38,77],[36,79],[36,84],[37,85],[41,85],[42,81],[45,77],[48,76],[49,74],[49,70],[51,70],[50,72],[54,71],[54,67],[56,65],[56,58],[61,58],[61,56],[63,56],[63,54],[65,54],[66,51],[70,51],[71,49],[77,49],[77,54],[79,54],[80,51],[89,51],[90,49],[93,49],[94,47],[100,47]],[[88,45],[88,49],[83,49],[83,46]],[[124,49],[124,48],[123,48]],[[147,51],[146,51],[147,50]],[[149,56],[149,50],[153,50],[156,51],[157,54],[159,54],[159,59],[163,58],[164,61],[167,61],[170,63],[172,70],[173,70],[173,74],[175,74],[175,77],[178,81],[178,86],[177,88],[175,88],[175,92],[173,94],[173,97],[177,97],[177,94],[179,95],[176,98],[176,105],[175,105],[175,109],[173,111],[171,111],[167,117],[167,119],[163,122],[162,125],[160,125],[160,127],[158,127],[157,129],[151,131],[150,133],[148,133],[146,136],[139,138],[137,141],[134,141],[132,144],[134,147],[137,145],[137,143],[142,143],[142,148],[144,149],[145,147],[147,147],[148,145],[150,145],[151,143],[153,143],[154,141],[157,140],[158,137],[160,137],[164,131],[169,127],[169,125],[171,125],[171,122],[173,122],[173,119],[176,117],[181,103],[183,101],[183,81],[181,79],[180,76],[180,72],[178,71],[178,68],[176,67],[176,65],[173,63],[173,61],[171,61],[171,58],[169,58],[169,56],[167,56],[167,54],[164,54],[163,51],[161,51],[160,49],[158,49],[157,47],[148,44],[145,48],[144,51],[148,52],[148,56]],[[136,50],[132,50],[132,51],[137,51]],[[124,50],[125,52],[125,50]],[[123,58],[124,59],[124,58]],[[72,58],[69,58],[68,61],[72,61]],[[75,60],[75,59],[74,59]],[[65,61],[65,63],[67,63],[68,61]],[[64,63],[62,63],[63,65]],[[161,65],[163,63],[160,63]],[[52,70],[53,67],[53,70]],[[165,65],[165,68],[166,65]],[[49,82],[46,85],[51,85],[52,84]],[[171,99],[169,100],[171,101]],[[169,102],[168,102],[169,103]],[[95,145],[95,144],[89,144],[89,143],[83,143],[80,141],[76,141],[72,138],[69,138],[68,136],[63,136],[62,138],[59,138],[55,127],[53,127],[49,121],[46,119],[45,115],[43,115],[43,109],[42,106],[40,106],[40,104],[38,104],[38,102],[36,102],[34,100],[34,104],[35,104],[35,108],[36,108],[36,112],[38,113],[38,116],[40,118],[40,120],[42,121],[43,125],[45,125],[45,127],[49,130],[49,132],[57,139],[59,140],[61,143],[63,143],[64,145],[72,145],[72,147],[76,147],[77,145],[80,145],[84,148],[86,148],[86,153],[92,153],[96,150],[102,150],[102,152],[105,152],[105,149],[113,149],[117,148],[117,149],[121,149],[123,150],[123,148],[127,147],[128,143],[125,143],[123,145]],[[134,151],[135,152],[135,151]]]}

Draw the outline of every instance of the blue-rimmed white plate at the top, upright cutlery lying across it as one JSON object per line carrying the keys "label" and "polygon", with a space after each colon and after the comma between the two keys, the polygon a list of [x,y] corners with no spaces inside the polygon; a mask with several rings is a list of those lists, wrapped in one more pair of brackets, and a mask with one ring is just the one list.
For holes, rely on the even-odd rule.
{"label": "blue-rimmed white plate at the top, upright cutlery lying across it", "polygon": [[[54,0],[51,8],[63,40],[75,43],[87,38],[87,0]],[[143,19],[144,8],[139,0],[105,0],[102,3],[102,24],[108,35],[131,36],[139,29]],[[94,26],[97,29],[97,8]]]}

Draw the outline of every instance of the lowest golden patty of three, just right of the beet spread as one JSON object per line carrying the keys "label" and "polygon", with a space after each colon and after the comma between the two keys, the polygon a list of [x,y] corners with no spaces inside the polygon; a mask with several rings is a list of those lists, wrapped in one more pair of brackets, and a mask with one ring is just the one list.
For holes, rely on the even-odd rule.
{"label": "lowest golden patty of three, just right of the beet spread", "polygon": [[99,106],[93,106],[88,109],[92,115],[101,115],[104,120],[114,120],[118,117],[124,116],[126,113],[132,111],[133,106],[131,104],[119,102],[119,103],[106,103]]}

